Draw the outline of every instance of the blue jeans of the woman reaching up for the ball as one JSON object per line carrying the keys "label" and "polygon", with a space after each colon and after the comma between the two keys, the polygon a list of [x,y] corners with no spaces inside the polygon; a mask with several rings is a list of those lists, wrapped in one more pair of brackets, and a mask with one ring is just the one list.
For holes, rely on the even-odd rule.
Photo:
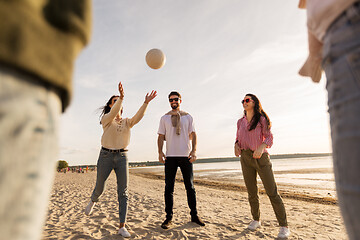
{"label": "blue jeans of the woman reaching up for the ball", "polygon": [[91,195],[91,200],[93,202],[99,201],[99,197],[104,191],[105,181],[114,169],[117,179],[120,223],[124,223],[126,221],[128,209],[128,165],[127,154],[125,152],[115,153],[101,149],[97,162],[96,185]]}

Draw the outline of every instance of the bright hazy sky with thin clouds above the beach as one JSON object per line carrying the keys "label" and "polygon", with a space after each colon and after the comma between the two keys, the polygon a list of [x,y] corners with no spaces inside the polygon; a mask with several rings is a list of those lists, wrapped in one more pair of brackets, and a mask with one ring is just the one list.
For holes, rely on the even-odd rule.
{"label": "bright hazy sky with thin clouds above the beach", "polygon": [[[270,117],[270,154],[331,152],[325,77],[320,84],[297,72],[307,56],[306,13],[283,0],[94,1],[91,43],[74,73],[74,97],[62,116],[60,159],[96,164],[102,127],[96,110],[125,89],[124,117],[151,90],[158,97],[132,128],[129,161],[157,160],[160,117],[167,95],[195,121],[198,158],[233,156],[236,122],[246,93]],[[166,64],[145,63],[159,48]]]}

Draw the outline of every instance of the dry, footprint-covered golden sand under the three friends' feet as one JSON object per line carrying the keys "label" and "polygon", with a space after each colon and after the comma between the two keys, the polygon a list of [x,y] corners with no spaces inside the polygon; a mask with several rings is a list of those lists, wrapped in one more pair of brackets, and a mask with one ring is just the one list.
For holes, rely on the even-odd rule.
{"label": "dry, footprint-covered golden sand under the three friends' feet", "polygon": [[[260,195],[262,227],[251,232],[247,193],[221,184],[195,184],[199,215],[206,226],[190,222],[183,183],[175,184],[174,225],[160,227],[164,214],[164,181],[130,174],[127,228],[132,239],[276,239],[278,225],[270,201]],[[42,239],[123,239],[117,235],[119,218],[116,177],[111,173],[104,194],[91,216],[84,214],[96,179],[95,172],[57,173]],[[289,239],[347,239],[339,208],[284,197],[291,229]]]}

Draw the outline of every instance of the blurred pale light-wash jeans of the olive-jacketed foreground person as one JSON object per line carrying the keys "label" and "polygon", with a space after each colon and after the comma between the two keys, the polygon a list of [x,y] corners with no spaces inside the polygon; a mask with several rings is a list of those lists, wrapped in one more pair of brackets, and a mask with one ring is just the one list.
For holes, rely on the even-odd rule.
{"label": "blurred pale light-wash jeans of the olive-jacketed foreground person", "polygon": [[0,239],[40,239],[58,156],[61,101],[0,66]]}

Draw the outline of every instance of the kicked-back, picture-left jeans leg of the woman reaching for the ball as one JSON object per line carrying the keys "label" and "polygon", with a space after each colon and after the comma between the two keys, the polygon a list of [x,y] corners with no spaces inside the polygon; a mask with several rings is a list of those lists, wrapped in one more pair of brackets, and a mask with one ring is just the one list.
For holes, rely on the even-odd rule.
{"label": "kicked-back, picture-left jeans leg of the woman reaching for the ball", "polygon": [[100,151],[97,162],[96,184],[91,195],[91,201],[98,202],[99,197],[104,191],[105,181],[109,177],[111,171],[114,169],[114,154],[105,150]]}

